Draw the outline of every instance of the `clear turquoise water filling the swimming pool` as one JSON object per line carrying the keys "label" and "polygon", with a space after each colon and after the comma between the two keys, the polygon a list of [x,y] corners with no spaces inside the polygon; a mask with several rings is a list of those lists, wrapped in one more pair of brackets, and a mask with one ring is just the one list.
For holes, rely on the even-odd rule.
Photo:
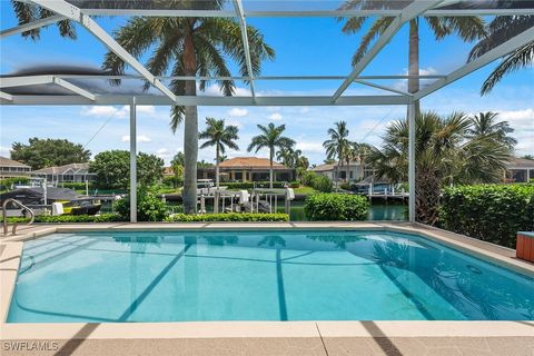
{"label": "clear turquoise water filling the swimming pool", "polygon": [[534,319],[534,279],[383,231],[57,234],[8,322]]}

